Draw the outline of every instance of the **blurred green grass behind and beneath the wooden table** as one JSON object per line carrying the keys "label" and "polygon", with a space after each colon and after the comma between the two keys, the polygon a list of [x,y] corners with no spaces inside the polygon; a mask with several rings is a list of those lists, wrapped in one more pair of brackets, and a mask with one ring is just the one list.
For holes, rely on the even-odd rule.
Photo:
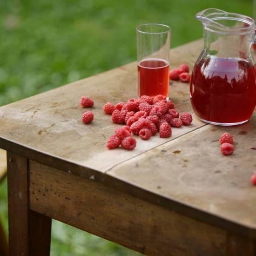
{"label": "blurred green grass behind and beneath the wooden table", "polygon": [[[252,0],[0,0],[0,106],[135,61],[139,24],[167,24],[175,47],[202,37],[195,13],[214,7],[252,16],[252,6]],[[7,229],[6,181],[0,217]],[[54,221],[51,255],[71,253],[138,255]]]}

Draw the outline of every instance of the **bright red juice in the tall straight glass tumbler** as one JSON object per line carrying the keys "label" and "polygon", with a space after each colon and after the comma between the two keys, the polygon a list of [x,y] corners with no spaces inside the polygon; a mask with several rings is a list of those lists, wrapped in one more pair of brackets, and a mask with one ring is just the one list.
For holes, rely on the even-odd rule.
{"label": "bright red juice in the tall straight glass tumbler", "polygon": [[169,63],[162,59],[146,59],[138,64],[138,94],[168,98]]}

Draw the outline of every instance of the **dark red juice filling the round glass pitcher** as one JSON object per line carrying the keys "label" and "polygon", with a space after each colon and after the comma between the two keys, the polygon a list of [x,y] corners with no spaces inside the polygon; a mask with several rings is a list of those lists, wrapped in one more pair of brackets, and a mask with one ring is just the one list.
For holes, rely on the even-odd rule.
{"label": "dark red juice filling the round glass pitcher", "polygon": [[256,105],[256,67],[239,58],[202,59],[192,72],[190,99],[202,121],[220,125],[248,121]]}

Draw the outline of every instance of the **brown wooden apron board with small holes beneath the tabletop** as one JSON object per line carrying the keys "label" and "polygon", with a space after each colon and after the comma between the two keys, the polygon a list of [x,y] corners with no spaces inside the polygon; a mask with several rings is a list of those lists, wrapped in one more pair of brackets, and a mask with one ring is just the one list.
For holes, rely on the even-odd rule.
{"label": "brown wooden apron board with small holes beneath the tabletop", "polygon": [[43,215],[146,255],[225,255],[222,229],[34,161],[30,205]]}

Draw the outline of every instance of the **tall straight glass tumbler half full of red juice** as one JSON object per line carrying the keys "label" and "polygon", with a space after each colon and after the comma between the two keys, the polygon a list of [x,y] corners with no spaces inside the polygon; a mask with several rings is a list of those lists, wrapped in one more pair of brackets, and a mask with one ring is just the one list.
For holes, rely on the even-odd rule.
{"label": "tall straight glass tumbler half full of red juice", "polygon": [[169,94],[170,27],[143,24],[137,27],[138,94]]}

